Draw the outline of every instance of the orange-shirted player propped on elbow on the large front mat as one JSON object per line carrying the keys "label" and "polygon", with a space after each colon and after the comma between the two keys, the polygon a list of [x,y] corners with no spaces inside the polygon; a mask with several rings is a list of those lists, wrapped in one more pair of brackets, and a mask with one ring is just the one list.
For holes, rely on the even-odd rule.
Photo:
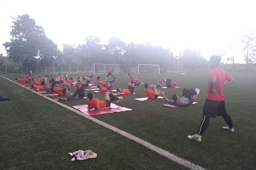
{"label": "orange-shirted player propped on elbow on the large front mat", "polygon": [[112,101],[116,101],[117,103],[120,101],[119,99],[123,99],[122,96],[116,98],[111,92],[105,92],[105,100],[98,100],[94,98],[94,95],[89,92],[87,94],[88,100],[87,105],[88,108],[95,108],[96,110],[106,110],[109,109]]}

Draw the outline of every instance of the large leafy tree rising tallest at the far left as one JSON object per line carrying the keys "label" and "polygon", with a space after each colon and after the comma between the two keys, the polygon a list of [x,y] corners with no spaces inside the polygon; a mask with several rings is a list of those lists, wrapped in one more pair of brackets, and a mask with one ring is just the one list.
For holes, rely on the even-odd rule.
{"label": "large leafy tree rising tallest at the far left", "polygon": [[28,14],[13,18],[11,42],[3,46],[11,60],[24,66],[52,66],[60,55],[57,45],[48,39],[42,26],[37,26]]}

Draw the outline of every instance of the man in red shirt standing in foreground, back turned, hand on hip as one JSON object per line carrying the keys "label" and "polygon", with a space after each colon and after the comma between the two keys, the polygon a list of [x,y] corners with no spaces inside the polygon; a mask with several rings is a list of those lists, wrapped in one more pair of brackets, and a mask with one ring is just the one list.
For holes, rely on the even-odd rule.
{"label": "man in red shirt standing in foreground, back turned, hand on hip", "polygon": [[201,137],[209,126],[210,118],[216,118],[217,116],[222,116],[228,124],[227,127],[222,127],[223,129],[234,132],[232,119],[225,108],[225,96],[222,93],[223,86],[232,84],[234,79],[219,67],[220,63],[220,56],[212,55],[210,57],[209,65],[212,70],[209,73],[207,96],[203,106],[203,120],[197,134],[188,136],[189,139],[201,142]]}

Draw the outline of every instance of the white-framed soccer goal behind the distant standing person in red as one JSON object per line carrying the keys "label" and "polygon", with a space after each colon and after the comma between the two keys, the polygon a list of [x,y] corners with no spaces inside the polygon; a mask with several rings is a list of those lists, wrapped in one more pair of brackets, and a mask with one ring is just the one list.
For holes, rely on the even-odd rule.
{"label": "white-framed soccer goal behind the distant standing person in red", "polygon": [[108,74],[110,66],[112,67],[112,74],[119,74],[119,64],[92,64],[91,72],[94,74]]}

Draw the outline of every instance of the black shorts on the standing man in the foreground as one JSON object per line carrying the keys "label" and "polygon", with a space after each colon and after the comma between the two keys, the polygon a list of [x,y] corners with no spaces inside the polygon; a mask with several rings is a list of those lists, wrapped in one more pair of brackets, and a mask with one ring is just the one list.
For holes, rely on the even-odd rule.
{"label": "black shorts on the standing man in the foreground", "polygon": [[221,116],[227,113],[225,107],[225,101],[213,101],[206,99],[203,106],[203,115],[207,115],[213,118]]}

